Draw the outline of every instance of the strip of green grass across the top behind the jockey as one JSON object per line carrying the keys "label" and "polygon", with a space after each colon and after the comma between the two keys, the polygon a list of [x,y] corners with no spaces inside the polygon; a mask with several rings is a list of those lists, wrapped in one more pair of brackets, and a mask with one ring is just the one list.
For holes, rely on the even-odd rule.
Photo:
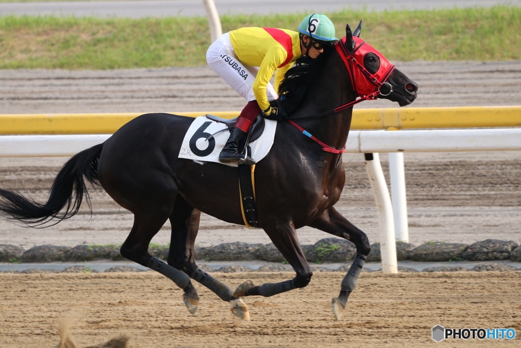
{"label": "strip of green grass across the top behind the jockey", "polygon": [[[362,38],[391,61],[521,59],[521,8],[383,11],[328,14],[364,19]],[[296,29],[303,14],[221,16],[223,31],[246,26]],[[206,18],[0,17],[0,68],[121,69],[205,65]]]}

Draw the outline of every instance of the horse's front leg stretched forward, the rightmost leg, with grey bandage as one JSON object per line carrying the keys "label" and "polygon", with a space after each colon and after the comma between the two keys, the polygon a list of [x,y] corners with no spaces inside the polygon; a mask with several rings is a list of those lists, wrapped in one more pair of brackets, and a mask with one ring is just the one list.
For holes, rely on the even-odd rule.
{"label": "horse's front leg stretched forward, the rightmost leg, with grey bandage", "polygon": [[336,235],[341,238],[348,239],[356,246],[356,255],[353,260],[351,267],[349,268],[348,274],[345,275],[342,280],[342,286],[340,295],[332,299],[333,314],[337,320],[340,320],[345,305],[348,303],[348,297],[351,292],[355,289],[356,282],[362,271],[371,247],[369,246],[369,239],[367,235],[359,230],[355,225],[345,219],[336,209],[333,207],[325,210],[318,219],[309,224],[309,226],[315,229]]}

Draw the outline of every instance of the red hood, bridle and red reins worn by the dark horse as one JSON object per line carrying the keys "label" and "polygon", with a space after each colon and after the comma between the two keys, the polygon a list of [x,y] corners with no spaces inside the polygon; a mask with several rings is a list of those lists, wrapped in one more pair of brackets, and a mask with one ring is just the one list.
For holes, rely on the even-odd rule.
{"label": "red hood, bridle and red reins worn by the dark horse", "polygon": [[[348,69],[353,90],[358,95],[358,97],[360,97],[360,99],[339,106],[336,109],[321,113],[319,115],[307,117],[307,119],[333,114],[348,109],[348,107],[358,104],[359,102],[363,102],[364,100],[376,100],[378,98],[378,95],[384,96],[392,93],[392,86],[389,82],[386,81],[393,72],[395,66],[389,63],[386,57],[384,57],[380,52],[375,50],[371,45],[369,45],[365,41],[362,41],[357,37],[353,37],[353,41],[355,42],[355,48],[352,52],[347,49],[345,45],[345,38],[341,39],[334,46],[337,49],[338,54],[344,61],[346,68]],[[376,54],[380,59],[380,66],[375,74],[369,73],[369,71],[367,71],[364,65],[358,62],[358,60],[361,60],[363,62],[364,56],[369,52]],[[389,86],[389,92],[387,92],[386,94],[383,94],[381,91],[381,88],[384,85]],[[309,134],[306,130],[304,130],[304,128],[297,125],[292,120],[288,119],[287,121],[291,123],[293,126],[295,126],[297,129],[299,129],[305,136],[319,143],[322,146],[322,150],[332,153],[342,153],[345,151],[345,146],[342,150],[332,148],[326,145],[324,142],[315,138],[313,135]]]}

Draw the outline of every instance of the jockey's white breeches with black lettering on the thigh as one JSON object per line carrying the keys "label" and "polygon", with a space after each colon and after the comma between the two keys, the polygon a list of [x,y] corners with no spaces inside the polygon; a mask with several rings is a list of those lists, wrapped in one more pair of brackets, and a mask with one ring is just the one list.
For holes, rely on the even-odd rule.
{"label": "jockey's white breeches with black lettering on the thigh", "polygon": [[[241,63],[230,42],[230,33],[222,34],[208,47],[206,61],[212,70],[239,92],[246,101],[255,100],[253,82],[257,76],[258,67]],[[266,86],[268,101],[279,98],[271,83]]]}

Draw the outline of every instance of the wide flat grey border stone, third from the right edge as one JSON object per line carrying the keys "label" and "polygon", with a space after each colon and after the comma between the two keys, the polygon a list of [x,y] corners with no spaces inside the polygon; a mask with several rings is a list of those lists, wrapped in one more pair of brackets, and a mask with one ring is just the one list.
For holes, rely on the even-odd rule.
{"label": "wide flat grey border stone, third from the right edge", "polygon": [[409,258],[422,262],[459,260],[467,248],[468,244],[427,242],[412,249]]}

